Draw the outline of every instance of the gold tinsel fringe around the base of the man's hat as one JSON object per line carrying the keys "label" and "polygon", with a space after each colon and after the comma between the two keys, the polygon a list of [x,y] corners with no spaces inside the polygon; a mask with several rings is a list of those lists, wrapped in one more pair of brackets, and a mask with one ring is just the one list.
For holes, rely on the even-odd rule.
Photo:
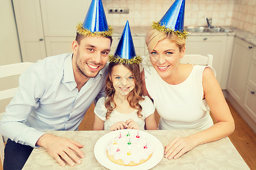
{"label": "gold tinsel fringe around the base of the man's hat", "polygon": [[77,33],[79,33],[81,36],[104,36],[104,37],[110,37],[113,33],[113,27],[109,25],[109,31],[100,31],[100,32],[91,32],[88,29],[85,29],[82,23],[78,23],[76,25]]}

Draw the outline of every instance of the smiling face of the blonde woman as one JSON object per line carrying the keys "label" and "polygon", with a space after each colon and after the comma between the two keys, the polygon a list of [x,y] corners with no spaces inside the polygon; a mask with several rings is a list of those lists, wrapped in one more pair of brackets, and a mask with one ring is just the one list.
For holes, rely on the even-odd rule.
{"label": "smiling face of the blonde woman", "polygon": [[173,75],[179,65],[180,58],[184,56],[185,48],[179,50],[179,46],[170,39],[164,39],[156,44],[150,52],[150,61],[156,72],[162,79]]}

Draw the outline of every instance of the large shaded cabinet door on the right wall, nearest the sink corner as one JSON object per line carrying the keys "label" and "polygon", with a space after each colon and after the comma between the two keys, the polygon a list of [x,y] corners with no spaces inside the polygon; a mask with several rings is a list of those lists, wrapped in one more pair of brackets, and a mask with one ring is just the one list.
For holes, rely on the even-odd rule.
{"label": "large shaded cabinet door on the right wall, nearest the sink corner", "polygon": [[237,101],[243,105],[243,96],[245,94],[246,79],[249,71],[251,55],[253,49],[250,44],[236,38],[234,41],[233,58],[230,67],[228,80],[228,92]]}

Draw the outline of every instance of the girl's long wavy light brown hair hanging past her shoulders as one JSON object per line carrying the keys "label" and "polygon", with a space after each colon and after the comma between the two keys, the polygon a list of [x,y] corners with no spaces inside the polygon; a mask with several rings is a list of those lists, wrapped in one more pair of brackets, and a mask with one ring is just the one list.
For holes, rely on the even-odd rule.
{"label": "girl's long wavy light brown hair hanging past her shoulders", "polygon": [[142,82],[141,82],[141,72],[140,72],[139,64],[134,63],[133,65],[130,65],[127,63],[110,62],[109,74],[106,78],[106,87],[105,87],[105,92],[106,92],[105,107],[107,109],[106,119],[110,117],[110,114],[113,112],[114,108],[116,107],[116,104],[114,102],[115,88],[113,86],[112,80],[110,80],[113,67],[116,65],[123,65],[127,69],[129,69],[131,73],[133,73],[135,87],[132,91],[129,92],[127,96],[127,100],[131,108],[138,109],[138,112],[137,112],[138,117],[142,118],[142,114],[141,114],[142,106],[139,104],[139,101],[144,100],[144,98],[142,97]]}

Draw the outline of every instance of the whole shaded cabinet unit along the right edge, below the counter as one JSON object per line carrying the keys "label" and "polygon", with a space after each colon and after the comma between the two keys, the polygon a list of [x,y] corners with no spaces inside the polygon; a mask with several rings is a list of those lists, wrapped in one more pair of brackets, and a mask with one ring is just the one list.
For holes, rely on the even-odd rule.
{"label": "whole shaded cabinet unit along the right edge, below the counter", "polygon": [[[256,48],[255,46],[235,38],[228,92],[236,103],[256,122]],[[236,108],[236,103],[233,103]],[[244,117],[243,115],[241,115]],[[245,120],[248,118],[245,118]],[[248,122],[247,122],[248,123]],[[249,124],[250,125],[250,124]]]}

